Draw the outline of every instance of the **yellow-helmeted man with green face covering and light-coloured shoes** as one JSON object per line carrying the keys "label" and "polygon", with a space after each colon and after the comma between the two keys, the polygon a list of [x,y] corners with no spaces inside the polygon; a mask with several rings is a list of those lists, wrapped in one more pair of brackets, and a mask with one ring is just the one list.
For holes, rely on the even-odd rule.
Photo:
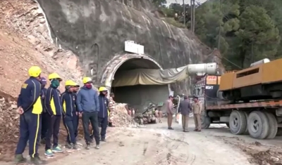
{"label": "yellow-helmeted man with green face covering and light-coloured shoes", "polygon": [[[53,152],[63,152],[58,145],[58,136],[61,123],[61,116],[63,114],[63,105],[61,103],[61,93],[58,89],[61,77],[57,73],[49,74],[48,79],[51,85],[47,88],[45,106],[49,114],[49,127],[45,139],[45,155],[53,157]],[[53,136],[53,147],[51,147],[51,137]]]}

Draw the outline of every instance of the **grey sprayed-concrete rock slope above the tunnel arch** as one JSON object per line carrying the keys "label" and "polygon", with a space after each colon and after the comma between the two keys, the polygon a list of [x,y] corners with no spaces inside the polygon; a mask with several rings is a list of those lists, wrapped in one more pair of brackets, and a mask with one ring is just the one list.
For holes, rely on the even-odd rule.
{"label": "grey sprayed-concrete rock slope above the tunnel arch", "polygon": [[[203,61],[212,50],[187,29],[157,18],[147,0],[38,0],[54,41],[79,56],[86,74],[102,77],[106,62],[124,53],[124,41],[145,46],[164,68]],[[123,2],[123,3],[121,3]],[[209,61],[211,62],[211,61]],[[183,84],[184,85],[184,84]]]}

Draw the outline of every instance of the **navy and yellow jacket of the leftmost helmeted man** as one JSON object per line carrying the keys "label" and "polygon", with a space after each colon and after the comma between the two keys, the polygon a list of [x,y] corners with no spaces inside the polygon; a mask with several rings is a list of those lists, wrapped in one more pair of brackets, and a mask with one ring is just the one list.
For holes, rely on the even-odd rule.
{"label": "navy and yellow jacket of the leftmost helmeted man", "polygon": [[18,95],[18,107],[22,107],[25,112],[30,111],[33,114],[41,114],[40,92],[40,82],[34,77],[27,79],[20,89],[20,95]]}

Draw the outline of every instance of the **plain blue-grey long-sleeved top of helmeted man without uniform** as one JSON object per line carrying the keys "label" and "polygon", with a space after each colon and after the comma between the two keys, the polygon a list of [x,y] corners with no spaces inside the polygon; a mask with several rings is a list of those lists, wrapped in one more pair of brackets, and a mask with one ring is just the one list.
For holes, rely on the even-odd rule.
{"label": "plain blue-grey long-sleeved top of helmeted man without uniform", "polygon": [[79,112],[99,112],[98,93],[93,88],[85,88],[84,86],[78,91],[76,98]]}

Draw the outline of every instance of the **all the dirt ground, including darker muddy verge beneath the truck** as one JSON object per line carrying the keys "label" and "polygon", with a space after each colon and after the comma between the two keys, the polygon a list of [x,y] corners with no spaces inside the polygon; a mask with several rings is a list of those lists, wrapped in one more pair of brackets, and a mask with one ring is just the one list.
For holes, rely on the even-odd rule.
{"label": "all the dirt ground, including darker muddy verge beneath the truck", "polygon": [[[95,150],[94,146],[85,150],[83,146],[78,151],[66,150],[63,154],[55,154],[51,159],[41,157],[48,164],[61,165],[282,164],[281,136],[274,140],[234,136],[228,128],[216,128],[224,127],[219,124],[197,133],[192,131],[192,119],[189,127],[190,132],[183,133],[181,126],[173,123],[175,129],[169,131],[164,121],[146,128],[109,128],[108,141],[101,144],[100,150]],[[80,143],[85,144],[83,141]],[[40,147],[39,154],[43,153],[43,147]]]}

